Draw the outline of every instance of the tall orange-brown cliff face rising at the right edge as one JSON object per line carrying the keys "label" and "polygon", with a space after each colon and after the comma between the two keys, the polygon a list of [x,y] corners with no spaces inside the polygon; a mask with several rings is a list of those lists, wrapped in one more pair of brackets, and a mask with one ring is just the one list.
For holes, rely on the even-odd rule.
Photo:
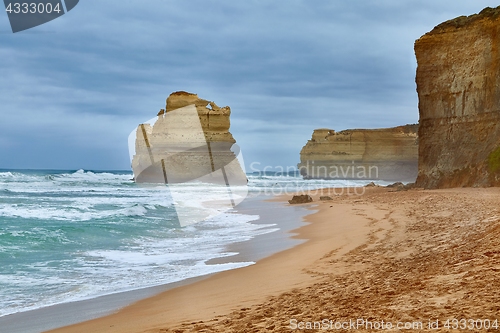
{"label": "tall orange-brown cliff face rising at the right edge", "polygon": [[415,54],[417,186],[499,186],[500,7],[438,25]]}

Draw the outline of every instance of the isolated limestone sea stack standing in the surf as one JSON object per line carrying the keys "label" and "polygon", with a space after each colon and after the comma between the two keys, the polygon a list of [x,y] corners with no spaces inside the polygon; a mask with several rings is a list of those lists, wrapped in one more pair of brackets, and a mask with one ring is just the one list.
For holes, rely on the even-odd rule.
{"label": "isolated limestone sea stack standing in the surf", "polygon": [[136,130],[134,179],[138,183],[202,181],[246,184],[229,132],[231,109],[196,94],[172,93],[153,124]]}

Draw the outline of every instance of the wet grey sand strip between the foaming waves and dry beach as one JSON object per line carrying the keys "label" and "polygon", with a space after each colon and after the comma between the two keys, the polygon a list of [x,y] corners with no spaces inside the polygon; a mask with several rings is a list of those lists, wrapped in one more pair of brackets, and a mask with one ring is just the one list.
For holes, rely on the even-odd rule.
{"label": "wet grey sand strip between the foaming waves and dry beach", "polygon": [[[294,223],[289,223],[289,225],[282,219],[278,219],[278,221],[275,221],[276,223],[269,221],[273,218],[276,211],[282,213],[286,211],[290,215],[290,210],[290,207],[270,201],[267,196],[249,197],[247,201],[237,207],[234,213],[249,215],[258,214],[260,218],[249,223],[263,225],[264,229],[279,228],[279,230],[254,236],[247,241],[231,243],[226,246],[223,252],[237,252],[237,255],[209,259],[205,264],[217,265],[225,263],[256,262],[273,253],[291,248],[301,243],[300,240],[292,239],[290,237],[292,234],[290,234],[289,231],[304,224],[302,219],[303,216],[309,214],[307,210],[304,208],[295,209],[292,213],[295,221],[293,221]],[[275,225],[267,226],[269,224]],[[269,240],[272,241],[271,247],[262,246],[269,243]],[[10,333],[26,333],[74,325],[113,314],[140,300],[153,297],[173,288],[196,283],[221,272],[224,271],[190,277],[158,286],[115,292],[89,299],[59,303],[38,309],[18,312],[0,317],[0,327],[8,330]]]}

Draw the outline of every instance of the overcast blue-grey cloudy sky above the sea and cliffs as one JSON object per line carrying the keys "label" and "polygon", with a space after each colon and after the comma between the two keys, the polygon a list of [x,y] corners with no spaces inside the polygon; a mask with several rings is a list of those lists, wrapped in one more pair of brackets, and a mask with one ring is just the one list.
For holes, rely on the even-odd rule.
{"label": "overcast blue-grey cloudy sky above the sea and cliffs", "polygon": [[247,172],[316,128],[418,122],[416,39],[487,0],[81,0],[13,34],[0,13],[0,168],[130,170],[174,91],[230,106]]}

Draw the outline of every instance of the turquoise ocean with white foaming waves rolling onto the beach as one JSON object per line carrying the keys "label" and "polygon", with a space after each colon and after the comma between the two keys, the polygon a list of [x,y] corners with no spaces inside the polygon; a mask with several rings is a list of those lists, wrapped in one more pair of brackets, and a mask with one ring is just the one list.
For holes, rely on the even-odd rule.
{"label": "turquoise ocean with white foaming waves rolling onto the beach", "polygon": [[[131,172],[0,170],[0,317],[54,304],[157,286],[254,262],[227,246],[278,230],[272,221],[213,208],[181,227],[176,207],[197,209],[223,189],[185,184],[144,187]],[[290,194],[364,181],[302,180],[249,174],[248,195]],[[380,183],[380,182],[379,182]],[[361,192],[360,192],[361,193]]]}

